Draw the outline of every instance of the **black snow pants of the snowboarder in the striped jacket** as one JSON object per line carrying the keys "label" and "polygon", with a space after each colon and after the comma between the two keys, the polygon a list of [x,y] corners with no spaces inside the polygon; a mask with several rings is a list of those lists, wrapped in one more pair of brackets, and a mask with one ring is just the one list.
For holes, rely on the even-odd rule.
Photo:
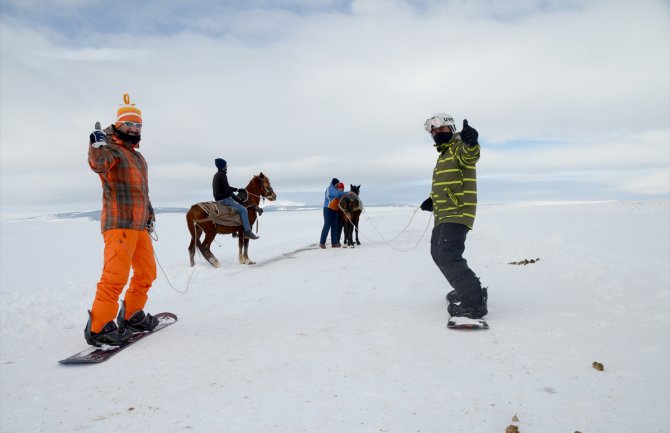
{"label": "black snow pants of the snowboarder in the striped jacket", "polygon": [[482,303],[482,285],[463,258],[465,238],[469,230],[463,224],[436,225],[430,238],[430,255],[451,287],[456,290],[461,305],[478,307]]}

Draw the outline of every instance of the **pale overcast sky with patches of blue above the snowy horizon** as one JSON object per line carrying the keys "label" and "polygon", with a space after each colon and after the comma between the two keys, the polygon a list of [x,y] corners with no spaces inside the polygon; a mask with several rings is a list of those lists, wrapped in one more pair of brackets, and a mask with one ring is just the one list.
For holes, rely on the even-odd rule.
{"label": "pale overcast sky with patches of blue above the snowy horizon", "polygon": [[0,0],[1,210],[100,208],[86,162],[122,95],[155,207],[332,177],[418,204],[436,112],[480,133],[480,202],[670,195],[667,0]]}

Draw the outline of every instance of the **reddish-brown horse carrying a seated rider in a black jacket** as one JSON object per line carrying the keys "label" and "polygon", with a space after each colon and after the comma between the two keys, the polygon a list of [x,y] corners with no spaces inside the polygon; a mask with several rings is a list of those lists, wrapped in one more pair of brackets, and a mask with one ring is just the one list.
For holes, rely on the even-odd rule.
{"label": "reddish-brown horse carrying a seated rider in a black jacket", "polygon": [[[244,206],[247,208],[249,214],[249,224],[252,226],[256,222],[258,215],[257,209],[260,199],[267,198],[270,201],[277,199],[277,194],[275,194],[270,185],[270,179],[268,179],[263,173],[254,176],[249,185],[247,185],[247,201],[244,202]],[[260,211],[262,213],[262,210]],[[249,259],[249,239],[244,237],[244,228],[239,226],[224,226],[221,224],[214,224],[212,220],[207,216],[207,213],[198,205],[194,204],[191,206],[191,209],[186,212],[186,224],[188,225],[188,231],[191,233],[191,243],[188,246],[188,254],[191,259],[191,266],[195,264],[195,247],[197,245],[200,253],[207,259],[207,261],[214,267],[219,267],[219,260],[214,257],[214,254],[210,251],[210,246],[214,237],[218,233],[220,234],[237,234],[238,245],[240,247],[240,263],[253,265],[255,262]],[[200,235],[202,232],[205,232],[205,239],[200,242]]]}

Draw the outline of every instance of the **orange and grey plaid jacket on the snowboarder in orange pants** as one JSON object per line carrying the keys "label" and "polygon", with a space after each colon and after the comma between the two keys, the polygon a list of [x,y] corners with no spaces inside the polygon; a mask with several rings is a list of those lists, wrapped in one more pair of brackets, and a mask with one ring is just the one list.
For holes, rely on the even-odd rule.
{"label": "orange and grey plaid jacket on the snowboarder in orange pants", "polygon": [[88,165],[102,181],[102,232],[111,229],[146,230],[155,219],[149,200],[147,162],[135,148],[105,129],[107,145],[88,147]]}

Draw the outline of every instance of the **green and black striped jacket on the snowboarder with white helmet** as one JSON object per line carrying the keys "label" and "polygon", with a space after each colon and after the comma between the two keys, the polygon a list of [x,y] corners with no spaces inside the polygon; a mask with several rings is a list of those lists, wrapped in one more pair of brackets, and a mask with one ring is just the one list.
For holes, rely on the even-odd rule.
{"label": "green and black striped jacket on the snowboarder with white helmet", "polygon": [[470,147],[455,134],[438,146],[440,156],[433,170],[433,215],[435,225],[464,224],[472,229],[477,213],[477,169],[479,144]]}

